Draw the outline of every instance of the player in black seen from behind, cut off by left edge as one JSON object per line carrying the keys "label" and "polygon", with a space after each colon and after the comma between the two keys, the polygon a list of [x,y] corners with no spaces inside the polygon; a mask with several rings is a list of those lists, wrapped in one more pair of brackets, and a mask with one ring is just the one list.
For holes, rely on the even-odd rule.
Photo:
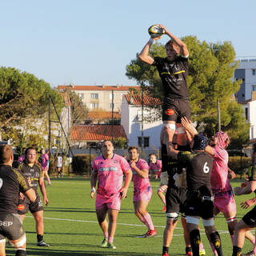
{"label": "player in black seen from behind, cut off by left edge", "polygon": [[0,146],[0,255],[6,255],[6,238],[16,249],[16,256],[26,256],[26,234],[18,215],[18,193],[34,202],[36,195],[24,175],[12,167],[13,149]]}

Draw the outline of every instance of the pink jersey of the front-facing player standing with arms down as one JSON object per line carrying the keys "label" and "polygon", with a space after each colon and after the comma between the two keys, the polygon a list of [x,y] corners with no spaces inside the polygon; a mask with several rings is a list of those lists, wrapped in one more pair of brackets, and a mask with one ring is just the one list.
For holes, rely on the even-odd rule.
{"label": "pink jersey of the front-facing player standing with arms down", "polygon": [[114,154],[111,159],[105,159],[101,155],[94,158],[93,171],[98,174],[98,194],[117,194],[122,190],[122,173],[130,170],[125,158]]}

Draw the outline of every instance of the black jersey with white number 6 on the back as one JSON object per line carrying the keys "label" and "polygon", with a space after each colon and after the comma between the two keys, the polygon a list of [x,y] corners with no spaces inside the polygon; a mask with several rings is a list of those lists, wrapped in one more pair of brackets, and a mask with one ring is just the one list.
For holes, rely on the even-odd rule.
{"label": "black jersey with white number 6 on the back", "polygon": [[178,162],[186,166],[188,190],[204,190],[211,194],[210,175],[213,169],[213,158],[205,152],[179,152]]}

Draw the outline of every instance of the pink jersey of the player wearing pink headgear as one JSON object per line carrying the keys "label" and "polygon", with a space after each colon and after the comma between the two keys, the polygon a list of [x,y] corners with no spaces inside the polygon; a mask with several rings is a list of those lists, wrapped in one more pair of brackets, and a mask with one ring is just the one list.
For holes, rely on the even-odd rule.
{"label": "pink jersey of the player wearing pink headgear", "polygon": [[222,147],[214,147],[214,166],[210,177],[213,191],[228,191],[232,187],[228,179],[229,154]]}

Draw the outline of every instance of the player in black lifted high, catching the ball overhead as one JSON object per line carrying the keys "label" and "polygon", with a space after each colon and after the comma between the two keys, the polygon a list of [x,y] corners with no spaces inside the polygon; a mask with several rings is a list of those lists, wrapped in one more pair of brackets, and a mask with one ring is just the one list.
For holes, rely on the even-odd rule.
{"label": "player in black lifted high, catching the ball overhead", "polygon": [[[190,102],[189,91],[186,85],[186,78],[189,68],[189,51],[185,42],[180,38],[170,33],[165,26],[160,26],[165,34],[170,37],[170,41],[166,43],[166,58],[150,56],[150,47],[155,40],[159,38],[150,38],[143,47],[138,58],[146,64],[156,66],[159,76],[162,80],[164,90],[164,99],[162,104],[162,136],[170,136],[168,141],[171,143],[174,132],[177,126],[177,143],[178,145],[186,146],[186,134],[181,124],[182,116],[190,118]],[[170,130],[170,133],[165,132],[165,126]],[[171,147],[171,145],[170,145]],[[167,150],[170,148],[167,147]]]}

